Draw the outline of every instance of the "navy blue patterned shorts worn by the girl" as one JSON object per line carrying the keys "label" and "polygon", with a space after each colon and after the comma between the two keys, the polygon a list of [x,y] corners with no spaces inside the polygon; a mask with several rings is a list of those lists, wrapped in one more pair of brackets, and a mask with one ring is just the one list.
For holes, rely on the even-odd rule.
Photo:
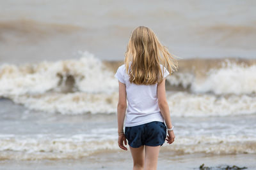
{"label": "navy blue patterned shorts worn by the girl", "polygon": [[141,145],[162,146],[166,139],[166,126],[163,122],[154,121],[125,127],[125,138],[132,148],[139,148]]}

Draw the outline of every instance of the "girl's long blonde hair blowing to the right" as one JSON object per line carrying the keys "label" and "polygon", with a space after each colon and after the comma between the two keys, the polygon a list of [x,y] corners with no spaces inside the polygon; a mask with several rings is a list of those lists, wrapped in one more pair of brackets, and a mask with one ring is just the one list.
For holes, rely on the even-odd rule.
{"label": "girl's long blonde hair blowing to the right", "polygon": [[[131,68],[129,65],[131,63]],[[125,69],[129,81],[137,85],[152,85],[163,81],[160,64],[170,72],[177,71],[178,62],[168,49],[161,45],[156,34],[148,27],[140,26],[132,31],[127,51]]]}

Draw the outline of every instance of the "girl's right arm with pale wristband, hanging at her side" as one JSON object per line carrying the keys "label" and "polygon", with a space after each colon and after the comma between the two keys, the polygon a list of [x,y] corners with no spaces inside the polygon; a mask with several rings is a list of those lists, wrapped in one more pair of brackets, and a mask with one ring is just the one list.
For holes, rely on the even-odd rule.
{"label": "girl's right arm with pale wristband, hanging at her side", "polygon": [[[164,118],[164,122],[168,129],[172,128],[172,120],[170,117],[170,110],[166,100],[166,92],[165,92],[165,78],[161,83],[157,85],[157,98],[158,98],[158,106],[161,111],[161,114]],[[175,135],[173,131],[168,131],[167,141],[169,144],[173,143]]]}

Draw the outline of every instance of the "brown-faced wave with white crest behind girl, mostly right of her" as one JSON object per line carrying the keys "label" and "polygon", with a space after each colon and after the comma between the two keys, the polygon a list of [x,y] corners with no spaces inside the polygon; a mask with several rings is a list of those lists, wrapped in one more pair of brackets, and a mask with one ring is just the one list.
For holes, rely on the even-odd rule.
{"label": "brown-faced wave with white crest behind girl, mostly right of her", "polygon": [[[255,94],[255,59],[184,59],[166,78],[166,89],[190,93]],[[122,62],[106,62],[112,71]]]}

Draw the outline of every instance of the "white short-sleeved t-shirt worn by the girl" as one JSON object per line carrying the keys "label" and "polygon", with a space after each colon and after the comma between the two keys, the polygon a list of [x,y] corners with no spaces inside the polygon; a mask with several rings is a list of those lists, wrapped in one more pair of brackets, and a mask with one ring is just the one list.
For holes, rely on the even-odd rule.
{"label": "white short-sleeved t-shirt worn by the girl", "polygon": [[[163,71],[163,65],[161,65]],[[164,67],[162,72],[164,78],[169,72]],[[125,127],[131,127],[149,122],[164,122],[157,99],[157,83],[154,85],[136,85],[129,81],[129,74],[125,71],[125,65],[118,67],[115,77],[126,86],[127,113],[125,116]]]}

